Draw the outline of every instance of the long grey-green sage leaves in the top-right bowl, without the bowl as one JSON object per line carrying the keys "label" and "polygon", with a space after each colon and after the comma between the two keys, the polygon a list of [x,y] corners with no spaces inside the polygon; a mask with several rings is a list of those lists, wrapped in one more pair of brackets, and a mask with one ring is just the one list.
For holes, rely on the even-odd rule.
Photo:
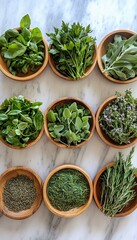
{"label": "long grey-green sage leaves in the top-right bowl, without the bowl", "polygon": [[114,42],[107,46],[102,62],[104,72],[115,79],[128,80],[137,76],[137,34],[128,39],[115,35]]}

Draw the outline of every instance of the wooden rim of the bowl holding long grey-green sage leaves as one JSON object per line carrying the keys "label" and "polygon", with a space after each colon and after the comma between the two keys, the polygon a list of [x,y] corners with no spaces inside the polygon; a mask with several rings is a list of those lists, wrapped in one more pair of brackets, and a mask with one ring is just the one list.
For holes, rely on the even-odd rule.
{"label": "wooden rim of the bowl holding long grey-green sage leaves", "polygon": [[98,62],[98,67],[101,71],[101,73],[103,74],[103,76],[105,78],[107,78],[109,81],[111,82],[114,82],[114,83],[118,83],[118,84],[128,84],[128,83],[132,83],[134,81],[137,80],[137,76],[132,78],[132,79],[129,79],[129,80],[118,80],[118,79],[115,79],[109,75],[107,75],[105,72],[103,72],[104,68],[103,68],[103,63],[102,63],[102,60],[101,60],[101,49],[102,49],[102,46],[104,45],[104,42],[111,36],[111,35],[114,35],[114,34],[122,34],[122,33],[129,33],[132,35],[136,34],[134,31],[131,31],[131,30],[115,30],[115,31],[112,31],[110,33],[108,33],[100,42],[99,46],[98,46],[98,51],[97,51],[97,62]]}

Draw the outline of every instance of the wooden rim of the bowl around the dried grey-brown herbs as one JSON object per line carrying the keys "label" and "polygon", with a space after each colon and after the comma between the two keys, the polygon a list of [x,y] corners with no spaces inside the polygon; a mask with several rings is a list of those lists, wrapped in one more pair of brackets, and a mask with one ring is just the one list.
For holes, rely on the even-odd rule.
{"label": "wooden rim of the bowl around the dried grey-brown herbs", "polygon": [[[22,174],[26,175],[26,173],[28,173],[31,176],[33,176],[34,179],[35,179],[34,182],[37,182],[37,184],[39,185],[39,193],[40,193],[39,196],[37,196],[36,199],[35,199],[35,201],[37,200],[37,204],[36,204],[35,208],[32,205],[32,207],[30,209],[23,210],[23,211],[20,211],[20,212],[16,213],[16,212],[13,212],[13,211],[10,211],[10,210],[6,210],[5,211],[4,207],[0,206],[0,211],[5,216],[7,216],[7,217],[9,217],[11,219],[15,219],[15,220],[22,220],[22,219],[25,219],[25,218],[28,218],[28,217],[32,216],[39,209],[39,207],[40,207],[40,205],[42,203],[42,200],[43,200],[43,195],[42,195],[43,182],[42,182],[41,177],[34,170],[32,170],[31,168],[24,167],[24,166],[14,166],[14,167],[11,167],[11,168],[5,170],[0,175],[0,183],[6,176],[8,176],[10,173],[12,173],[12,172],[14,173],[16,171],[23,171],[24,172],[24,173],[21,173],[21,174],[19,174],[19,172],[18,172],[17,175],[22,175]],[[1,187],[1,184],[0,184],[0,190],[2,191],[1,188],[2,187]],[[2,205],[2,202],[3,201],[2,201],[2,199],[0,197],[0,205]]]}

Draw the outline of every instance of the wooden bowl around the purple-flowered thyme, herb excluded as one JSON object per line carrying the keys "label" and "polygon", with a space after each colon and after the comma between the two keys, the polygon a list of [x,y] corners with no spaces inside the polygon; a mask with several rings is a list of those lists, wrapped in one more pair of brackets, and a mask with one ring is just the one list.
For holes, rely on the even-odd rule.
{"label": "wooden bowl around the purple-flowered thyme, herb excluded", "polygon": [[112,96],[107,98],[98,108],[97,112],[96,112],[96,130],[97,133],[99,135],[99,137],[102,139],[103,142],[105,142],[107,145],[109,145],[110,147],[114,147],[114,148],[118,148],[118,149],[124,149],[124,148],[128,148],[131,147],[132,145],[134,145],[137,142],[137,138],[133,138],[130,140],[129,144],[118,144],[116,142],[114,142],[100,127],[99,125],[99,116],[100,114],[103,112],[104,108],[106,106],[108,106],[108,104],[110,102],[112,102],[113,100],[116,99],[116,96]]}

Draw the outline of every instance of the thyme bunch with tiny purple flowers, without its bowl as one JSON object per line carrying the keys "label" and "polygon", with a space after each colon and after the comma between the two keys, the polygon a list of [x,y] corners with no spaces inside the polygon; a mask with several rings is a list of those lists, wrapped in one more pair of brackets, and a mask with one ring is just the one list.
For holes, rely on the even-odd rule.
{"label": "thyme bunch with tiny purple flowers, without its bowl", "polygon": [[137,137],[137,99],[134,99],[131,90],[126,90],[125,96],[116,92],[116,99],[101,113],[99,124],[118,144],[128,144]]}

